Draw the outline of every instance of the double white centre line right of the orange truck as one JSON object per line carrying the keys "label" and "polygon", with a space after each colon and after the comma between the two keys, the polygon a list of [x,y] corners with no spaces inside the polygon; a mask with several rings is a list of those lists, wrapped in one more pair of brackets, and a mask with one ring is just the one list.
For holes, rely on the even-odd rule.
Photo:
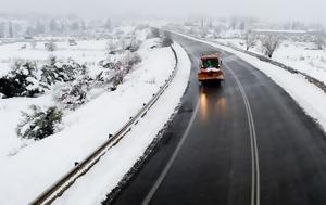
{"label": "double white centre line right of the orange truck", "polygon": [[251,107],[250,107],[244,88],[241,85],[239,78],[236,76],[236,74],[230,68],[228,68],[227,66],[225,66],[225,67],[231,73],[231,75],[236,79],[237,85],[240,89],[244,105],[246,105],[247,118],[248,118],[249,130],[250,130],[251,161],[252,161],[251,205],[260,205],[260,165],[259,165],[256,134],[255,134],[255,128],[254,128]]}

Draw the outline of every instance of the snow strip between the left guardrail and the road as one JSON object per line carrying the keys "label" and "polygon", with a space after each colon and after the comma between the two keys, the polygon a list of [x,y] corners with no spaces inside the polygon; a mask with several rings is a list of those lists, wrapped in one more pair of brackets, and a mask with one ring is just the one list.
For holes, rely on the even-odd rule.
{"label": "snow strip between the left guardrail and the road", "polygon": [[54,204],[100,204],[142,156],[147,146],[174,113],[188,84],[190,60],[180,46],[175,44],[175,50],[179,59],[178,72],[164,94],[146,117]]}

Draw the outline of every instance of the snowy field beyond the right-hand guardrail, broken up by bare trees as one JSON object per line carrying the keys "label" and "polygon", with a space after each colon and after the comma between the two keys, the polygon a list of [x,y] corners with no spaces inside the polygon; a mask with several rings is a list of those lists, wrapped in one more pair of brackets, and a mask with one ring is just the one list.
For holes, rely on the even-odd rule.
{"label": "snowy field beyond the right-hand guardrail, broken up by bare trees", "polygon": [[[214,39],[214,41],[246,50],[243,39]],[[285,40],[273,54],[273,60],[326,84],[326,51],[315,50],[314,48],[315,46],[312,42]],[[259,42],[249,51],[262,55],[262,48]]]}

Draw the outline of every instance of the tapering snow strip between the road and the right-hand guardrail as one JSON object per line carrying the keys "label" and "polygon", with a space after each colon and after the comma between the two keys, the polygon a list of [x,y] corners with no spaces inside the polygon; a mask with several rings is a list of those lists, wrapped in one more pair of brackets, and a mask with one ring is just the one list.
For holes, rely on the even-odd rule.
{"label": "tapering snow strip between the road and the right-hand guardrail", "polygon": [[228,47],[224,47],[211,41],[199,40],[186,35],[184,36],[234,53],[243,61],[250,63],[255,68],[271,77],[272,80],[274,80],[286,92],[288,92],[289,95],[302,107],[302,110],[313,119],[315,119],[324,130],[326,130],[326,94],[318,87],[309,82],[302,75],[291,74],[278,66],[260,61],[256,57],[235,51]]}

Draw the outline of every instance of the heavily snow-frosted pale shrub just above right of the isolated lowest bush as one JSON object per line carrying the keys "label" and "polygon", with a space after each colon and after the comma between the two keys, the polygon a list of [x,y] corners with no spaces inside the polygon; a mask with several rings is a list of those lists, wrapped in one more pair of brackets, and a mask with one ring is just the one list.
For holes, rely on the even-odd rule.
{"label": "heavily snow-frosted pale shrub just above right of the isolated lowest bush", "polygon": [[74,111],[88,101],[87,92],[89,88],[89,79],[83,77],[72,82],[58,86],[53,92],[53,98],[63,108]]}

